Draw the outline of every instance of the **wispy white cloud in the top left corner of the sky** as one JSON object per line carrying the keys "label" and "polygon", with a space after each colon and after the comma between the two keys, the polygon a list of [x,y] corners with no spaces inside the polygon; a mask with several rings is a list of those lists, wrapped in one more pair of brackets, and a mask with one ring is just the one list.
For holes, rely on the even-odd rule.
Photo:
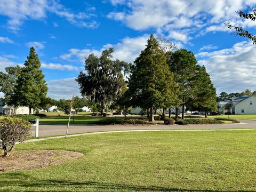
{"label": "wispy white cloud in the top left corner of the sky", "polygon": [[[79,27],[94,28],[99,24],[92,20],[86,21],[95,14],[91,13],[93,9],[85,12],[72,12],[57,0],[1,0],[0,15],[8,18],[6,27],[12,31],[19,30],[20,26],[26,20],[43,20],[47,17],[47,13],[55,13],[59,17],[65,18],[73,25]],[[53,23],[53,26],[58,27],[58,23]]]}

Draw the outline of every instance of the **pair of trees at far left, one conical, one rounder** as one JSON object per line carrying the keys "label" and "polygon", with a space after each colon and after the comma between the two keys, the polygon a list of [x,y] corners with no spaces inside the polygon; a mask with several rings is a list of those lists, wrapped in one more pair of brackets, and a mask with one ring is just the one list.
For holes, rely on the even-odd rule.
{"label": "pair of trees at far left, one conical, one rounder", "polygon": [[42,106],[48,89],[40,67],[35,49],[31,47],[24,67],[6,67],[6,73],[0,72],[0,91],[7,105],[27,106],[29,114],[32,108]]}

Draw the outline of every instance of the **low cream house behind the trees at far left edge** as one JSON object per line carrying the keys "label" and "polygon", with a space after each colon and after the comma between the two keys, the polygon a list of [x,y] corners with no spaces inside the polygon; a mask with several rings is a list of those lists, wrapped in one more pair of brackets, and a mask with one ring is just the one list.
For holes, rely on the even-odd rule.
{"label": "low cream house behind the trees at far left edge", "polygon": [[[34,113],[34,110],[31,109],[31,113]],[[0,114],[3,115],[29,115],[29,107],[17,107],[16,109],[13,106],[4,105],[2,99],[0,99]]]}

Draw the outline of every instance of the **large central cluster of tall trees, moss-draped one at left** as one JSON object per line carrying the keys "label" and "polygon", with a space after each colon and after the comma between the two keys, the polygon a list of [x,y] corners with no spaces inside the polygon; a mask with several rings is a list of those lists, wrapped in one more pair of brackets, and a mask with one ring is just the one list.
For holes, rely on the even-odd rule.
{"label": "large central cluster of tall trees, moss-draped one at left", "polygon": [[109,106],[123,110],[133,106],[148,110],[150,121],[154,121],[155,108],[163,108],[164,117],[167,108],[181,105],[182,118],[185,106],[214,110],[216,91],[205,67],[197,65],[192,52],[173,47],[151,35],[134,65],[113,60],[114,49],[103,51],[100,57],[89,55],[85,71],[76,78],[82,95],[100,102],[101,114]]}

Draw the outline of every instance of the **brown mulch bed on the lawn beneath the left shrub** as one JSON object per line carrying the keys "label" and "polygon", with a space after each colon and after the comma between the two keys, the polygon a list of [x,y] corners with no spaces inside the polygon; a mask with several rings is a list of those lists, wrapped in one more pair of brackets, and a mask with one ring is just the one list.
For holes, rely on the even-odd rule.
{"label": "brown mulch bed on the lawn beneath the left shrub", "polygon": [[9,157],[0,157],[0,172],[34,170],[65,163],[82,156],[82,153],[67,150],[18,150],[13,151]]}

